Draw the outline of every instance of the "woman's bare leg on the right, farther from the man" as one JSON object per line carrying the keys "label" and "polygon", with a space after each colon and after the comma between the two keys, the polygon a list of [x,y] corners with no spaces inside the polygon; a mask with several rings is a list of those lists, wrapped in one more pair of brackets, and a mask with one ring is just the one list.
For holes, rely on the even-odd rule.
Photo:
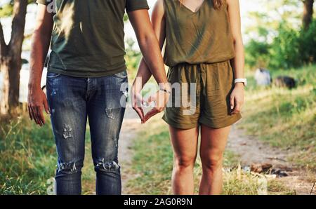
{"label": "woman's bare leg on the right, farther from the man", "polygon": [[199,194],[221,194],[223,189],[223,154],[231,126],[209,128],[201,126],[200,156],[202,180]]}

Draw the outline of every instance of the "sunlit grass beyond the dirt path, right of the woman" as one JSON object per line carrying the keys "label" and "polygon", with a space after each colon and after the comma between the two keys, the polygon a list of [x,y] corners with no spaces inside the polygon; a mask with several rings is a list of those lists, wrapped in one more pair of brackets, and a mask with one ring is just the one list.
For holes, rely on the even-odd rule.
{"label": "sunlit grass beyond the dirt path, right of the woman", "polygon": [[[244,128],[250,135],[291,152],[289,160],[300,168],[316,170],[316,65],[272,72],[272,76],[289,75],[298,81],[292,90],[260,88],[248,73],[243,109]],[[256,123],[254,123],[256,121]]]}

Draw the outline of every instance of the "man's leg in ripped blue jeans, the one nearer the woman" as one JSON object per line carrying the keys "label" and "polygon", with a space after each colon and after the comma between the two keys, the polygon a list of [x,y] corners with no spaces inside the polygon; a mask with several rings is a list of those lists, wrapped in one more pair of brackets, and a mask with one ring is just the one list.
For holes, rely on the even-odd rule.
{"label": "man's leg in ripped blue jeans, the one nearer the woman", "polygon": [[91,79],[87,109],[96,170],[96,194],[121,194],[117,153],[127,88],[126,72]]}

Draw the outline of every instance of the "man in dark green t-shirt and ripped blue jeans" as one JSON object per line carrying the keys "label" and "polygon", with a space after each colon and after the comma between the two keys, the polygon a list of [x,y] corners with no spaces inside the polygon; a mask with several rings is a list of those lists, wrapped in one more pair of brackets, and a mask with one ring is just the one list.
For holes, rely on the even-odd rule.
{"label": "man in dark green t-shirt and ripped blue jeans", "polygon": [[[169,93],[159,43],[147,12],[147,1],[37,0],[37,3],[30,59],[29,116],[43,126],[43,111],[51,114],[58,152],[56,192],[81,194],[88,119],[96,194],[121,194],[117,150],[125,110],[121,97],[127,90],[125,10],[144,59],[160,83],[157,94],[167,98]],[[46,99],[40,80],[50,42]],[[133,93],[133,97],[136,95]],[[164,104],[154,107],[150,114],[161,112]],[[141,107],[134,105],[134,108],[143,121],[145,116]]]}

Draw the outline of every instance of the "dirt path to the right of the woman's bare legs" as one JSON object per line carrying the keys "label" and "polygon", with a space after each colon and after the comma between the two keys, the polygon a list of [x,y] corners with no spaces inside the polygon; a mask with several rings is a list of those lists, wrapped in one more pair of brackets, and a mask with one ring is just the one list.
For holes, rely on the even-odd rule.
{"label": "dirt path to the right of the woman's bare legs", "polygon": [[[286,177],[277,177],[277,180],[296,191],[296,194],[310,194],[313,186],[310,179],[311,175],[315,174],[307,174],[293,168],[293,165],[287,161],[287,156],[289,156],[287,151],[270,147],[269,144],[259,141],[256,137],[245,135],[243,130],[236,127],[232,128],[227,149],[239,156],[243,167],[250,167],[255,163],[270,164],[275,170],[287,174]],[[312,194],[316,194],[315,190],[313,189]]]}

